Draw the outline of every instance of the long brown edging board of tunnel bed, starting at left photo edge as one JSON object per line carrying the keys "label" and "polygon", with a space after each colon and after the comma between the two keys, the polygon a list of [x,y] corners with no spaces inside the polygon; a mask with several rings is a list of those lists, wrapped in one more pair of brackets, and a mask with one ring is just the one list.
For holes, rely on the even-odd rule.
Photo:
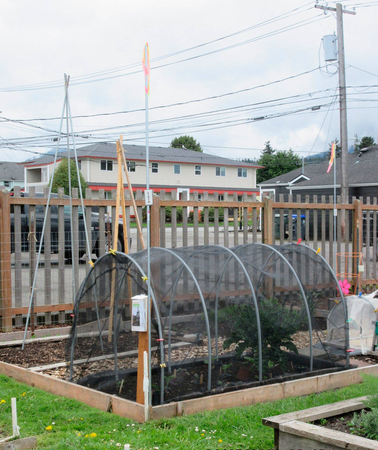
{"label": "long brown edging board of tunnel bed, starting at left photo edge", "polygon": [[82,401],[101,411],[107,411],[109,408],[111,396],[90,389],[89,387],[79,386],[78,384],[69,383],[68,381],[53,378],[49,375],[31,372],[30,370],[2,361],[0,361],[0,373],[7,377],[14,378],[20,383],[43,389],[51,394]]}

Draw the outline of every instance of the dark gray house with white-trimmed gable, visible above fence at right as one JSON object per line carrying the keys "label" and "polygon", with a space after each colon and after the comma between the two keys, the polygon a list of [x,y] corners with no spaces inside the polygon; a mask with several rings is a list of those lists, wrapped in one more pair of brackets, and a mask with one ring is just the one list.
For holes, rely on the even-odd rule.
{"label": "dark gray house with white-trimmed gable, visible above fence at right", "polygon": [[[336,164],[336,195],[340,195],[340,165],[341,158],[335,159]],[[276,202],[279,201],[279,194],[284,195],[284,201],[287,202],[288,195],[292,194],[293,200],[296,195],[301,194],[302,201],[304,196],[310,196],[310,202],[313,196],[326,196],[328,202],[329,196],[333,196],[333,166],[327,173],[328,161],[316,164],[307,164],[304,168],[298,168],[283,175],[279,175],[263,183],[258,184],[261,195],[270,195]],[[371,145],[363,148],[360,152],[349,153],[348,155],[348,182],[349,182],[349,202],[352,197],[366,198],[378,197],[378,146]],[[371,200],[372,201],[372,200]]]}

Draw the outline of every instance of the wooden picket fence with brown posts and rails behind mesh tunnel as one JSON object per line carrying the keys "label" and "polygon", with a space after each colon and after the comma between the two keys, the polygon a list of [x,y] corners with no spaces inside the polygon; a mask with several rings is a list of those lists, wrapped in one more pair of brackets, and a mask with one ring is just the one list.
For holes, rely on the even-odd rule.
{"label": "wooden picket fence with brown posts and rails behind mesh tunnel", "polygon": [[[15,189],[10,196],[7,191],[0,192],[0,317],[3,331],[12,331],[12,327],[22,327],[23,320],[28,310],[30,287],[36,270],[36,253],[38,248],[33,245],[33,229],[29,233],[29,251],[25,254],[21,250],[21,207],[29,205],[29,211],[34,211],[38,205],[46,205],[47,190],[44,197],[35,197],[33,189],[29,191],[29,197],[21,197],[19,189]],[[242,201],[237,201],[237,194],[232,199],[224,193],[223,201],[218,201],[218,193],[214,193],[214,200],[209,200],[209,194],[203,193],[202,200],[198,201],[198,193],[194,192],[193,200],[187,199],[187,193],[182,193],[182,199],[177,200],[177,192],[173,190],[166,195],[164,190],[159,195],[154,195],[154,203],[150,211],[150,239],[151,247],[185,247],[187,245],[211,245],[219,244],[225,247],[233,247],[239,244],[263,242],[267,244],[284,244],[297,242],[304,237],[302,243],[318,249],[323,257],[334,266],[334,254],[337,254],[337,270],[344,272],[343,254],[363,254],[364,272],[360,273],[363,279],[359,281],[359,287],[375,288],[377,281],[377,199],[369,199],[363,204],[362,199],[353,199],[350,204],[341,204],[337,198],[337,228],[336,244],[333,234],[333,198],[314,196],[313,202],[309,197],[297,195],[295,200],[289,196],[288,202],[272,202],[270,198],[264,198],[263,202],[247,201],[246,193]],[[320,202],[318,202],[320,200]],[[100,189],[99,199],[91,198],[91,189],[87,189],[86,198],[83,200],[86,207],[87,228],[91,229],[91,209],[99,211],[99,252],[105,253],[106,248],[106,211],[111,211],[115,216],[115,190],[111,200],[104,198],[104,190]],[[69,204],[68,198],[64,198],[63,190],[59,190],[58,198],[50,199],[51,205],[58,208],[58,261],[52,261],[50,254],[50,222],[46,223],[45,248],[43,266],[43,288],[40,286],[42,301],[34,302],[34,314],[43,317],[44,323],[69,322],[69,313],[73,309],[73,290],[77,292],[79,285],[87,271],[89,264],[79,264],[78,211],[81,201],[77,198],[77,189],[73,189],[73,251],[75,273],[72,268],[68,270],[64,260],[64,206]],[[128,236],[130,236],[130,216],[132,201],[128,191],[125,191],[124,218]],[[144,200],[142,191],[136,193],[137,211],[135,213],[142,220]],[[165,208],[171,208],[171,222],[169,226],[165,220]],[[182,222],[177,221],[177,208],[182,207]],[[14,211],[14,254],[11,255],[10,234],[10,210]],[[223,212],[222,209],[223,208]],[[228,208],[228,209],[226,209]],[[46,208],[45,208],[46,209]],[[192,212],[191,212],[192,211]],[[202,211],[201,214],[200,211]],[[228,211],[228,212],[226,212]],[[88,213],[88,214],[87,214]],[[193,216],[193,223],[188,217]],[[203,223],[200,222],[203,216]],[[259,224],[260,217],[260,224]],[[344,225],[345,224],[345,225]],[[111,229],[114,229],[112,221]],[[111,231],[111,230],[110,230]],[[302,234],[303,231],[303,234]],[[91,239],[91,233],[89,233]],[[141,250],[141,238],[136,234],[137,243],[132,244],[132,252]],[[336,248],[334,247],[336,245]],[[90,242],[90,246],[92,243]],[[91,259],[86,255],[87,261]],[[350,259],[346,265],[346,272],[358,273],[360,261]],[[28,275],[25,275],[25,267],[28,267]],[[340,269],[339,269],[340,268]],[[341,270],[342,269],[342,270]],[[70,278],[71,277],[71,278]],[[73,279],[73,281],[72,281]],[[68,281],[69,280],[69,281]],[[52,292],[55,292],[55,295]],[[43,295],[42,295],[43,294]],[[67,299],[70,299],[67,302]]]}

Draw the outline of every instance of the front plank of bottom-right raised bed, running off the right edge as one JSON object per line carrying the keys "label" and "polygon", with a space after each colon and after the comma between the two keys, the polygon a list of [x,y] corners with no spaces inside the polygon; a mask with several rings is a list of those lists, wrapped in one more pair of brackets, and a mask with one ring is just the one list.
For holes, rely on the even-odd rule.
{"label": "front plank of bottom-right raised bed, running off the right edge", "polygon": [[[349,433],[342,433],[329,428],[320,428],[316,425],[303,423],[298,420],[282,423],[279,430],[280,432],[290,433],[293,436],[304,437],[305,440],[313,440],[321,442],[322,444],[334,446],[333,448],[347,448],[348,450],[366,450],[369,448],[370,450],[378,450],[377,441],[372,441],[371,439]],[[291,441],[293,441],[293,437],[291,437]],[[293,442],[294,446],[295,444],[296,442]],[[310,442],[310,444],[312,444],[312,442]],[[367,445],[369,447],[367,447]]]}

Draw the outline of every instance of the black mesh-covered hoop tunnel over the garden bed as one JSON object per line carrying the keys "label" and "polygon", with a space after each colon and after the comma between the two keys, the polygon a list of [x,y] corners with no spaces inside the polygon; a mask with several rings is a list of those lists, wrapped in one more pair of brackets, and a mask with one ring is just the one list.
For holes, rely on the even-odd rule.
{"label": "black mesh-covered hoop tunnel over the garden bed", "polygon": [[[71,381],[135,400],[138,337],[129,302],[147,293],[146,273],[146,250],[107,253],[88,272],[66,347]],[[349,368],[346,300],[332,268],[310,247],[152,247],[150,286],[155,404],[279,380],[297,367],[311,374]],[[334,299],[342,320],[332,347],[325,311]],[[97,319],[96,310],[110,312],[110,305],[114,325],[104,339],[109,317]]]}

